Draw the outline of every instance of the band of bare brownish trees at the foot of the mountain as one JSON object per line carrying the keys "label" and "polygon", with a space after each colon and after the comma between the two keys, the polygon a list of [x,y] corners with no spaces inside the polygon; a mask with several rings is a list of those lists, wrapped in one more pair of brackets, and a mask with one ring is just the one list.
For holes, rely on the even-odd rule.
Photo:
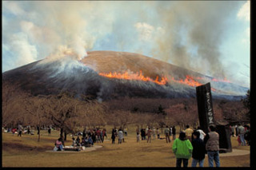
{"label": "band of bare brownish trees at the foot of the mountain", "polygon": [[[3,83],[2,88],[3,125],[53,125],[60,129],[61,137],[67,133],[78,132],[79,127],[114,125],[125,128],[133,124],[141,128],[178,125],[185,129],[186,125],[196,128],[199,124],[195,98],[122,97],[118,100],[99,102],[92,97],[70,91],[33,96],[29,92],[24,92],[18,85]],[[245,102],[246,99],[242,99],[242,102],[214,100],[214,119],[248,120],[246,114],[250,109],[246,109]]]}

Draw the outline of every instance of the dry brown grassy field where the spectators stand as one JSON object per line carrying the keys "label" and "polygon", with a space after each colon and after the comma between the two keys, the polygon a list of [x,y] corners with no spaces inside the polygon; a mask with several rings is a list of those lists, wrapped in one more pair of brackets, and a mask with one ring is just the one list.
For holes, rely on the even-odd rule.
{"label": "dry brown grassy field where the spectators stand", "polygon": [[[110,139],[110,128],[107,133]],[[125,143],[111,144],[105,140],[102,148],[92,152],[46,152],[54,148],[58,139],[58,131],[51,136],[42,131],[40,142],[37,135],[22,134],[14,136],[2,132],[2,167],[175,167],[176,159],[172,152],[172,144],[166,140],[136,141],[135,128],[128,130]],[[177,136],[178,137],[178,136]],[[238,146],[237,137],[232,137],[232,147],[250,150],[249,146]],[[71,145],[68,136],[66,145]],[[95,145],[98,145],[97,143]],[[243,156],[221,156],[222,167],[250,167],[250,154]],[[192,159],[189,160],[191,166]],[[207,157],[204,163],[208,167]]]}

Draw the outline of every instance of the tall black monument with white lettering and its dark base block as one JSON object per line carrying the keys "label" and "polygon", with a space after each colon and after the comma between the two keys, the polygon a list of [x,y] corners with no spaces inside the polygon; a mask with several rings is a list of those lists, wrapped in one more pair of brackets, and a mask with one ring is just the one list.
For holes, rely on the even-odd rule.
{"label": "tall black monument with white lettering and its dark base block", "polygon": [[214,109],[212,104],[210,83],[196,87],[198,101],[198,117],[200,127],[204,132],[209,132],[210,125],[216,125],[216,132],[219,134],[220,152],[232,152],[230,140],[230,126],[228,123],[214,121]]}

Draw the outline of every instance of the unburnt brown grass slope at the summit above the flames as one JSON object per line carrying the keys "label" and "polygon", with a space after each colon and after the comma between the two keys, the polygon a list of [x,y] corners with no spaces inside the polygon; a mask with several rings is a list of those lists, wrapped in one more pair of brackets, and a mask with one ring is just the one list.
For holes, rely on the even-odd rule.
{"label": "unburnt brown grass slope at the summit above the flames", "polygon": [[82,62],[99,73],[122,73],[126,70],[137,73],[142,70],[144,76],[151,78],[155,78],[157,75],[162,76],[168,74],[181,78],[185,77],[186,74],[203,76],[200,73],[158,61],[157,59],[146,57],[139,53],[90,51],[88,52],[88,56],[82,59]]}

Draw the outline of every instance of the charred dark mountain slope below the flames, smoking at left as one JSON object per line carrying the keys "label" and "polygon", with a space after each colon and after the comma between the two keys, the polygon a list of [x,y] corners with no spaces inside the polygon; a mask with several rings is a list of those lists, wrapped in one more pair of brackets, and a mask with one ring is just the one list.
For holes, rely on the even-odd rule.
{"label": "charred dark mountain slope below the flames, smoking at left", "polygon": [[[36,61],[2,74],[2,81],[17,85],[33,95],[59,93],[70,90],[98,99],[117,97],[194,97],[191,92],[180,93],[168,85],[153,82],[116,80],[101,77],[88,67],[72,67],[67,64],[62,70],[62,62],[54,61],[38,65]],[[70,71],[70,69],[72,71]],[[190,94],[191,93],[191,94]]]}

